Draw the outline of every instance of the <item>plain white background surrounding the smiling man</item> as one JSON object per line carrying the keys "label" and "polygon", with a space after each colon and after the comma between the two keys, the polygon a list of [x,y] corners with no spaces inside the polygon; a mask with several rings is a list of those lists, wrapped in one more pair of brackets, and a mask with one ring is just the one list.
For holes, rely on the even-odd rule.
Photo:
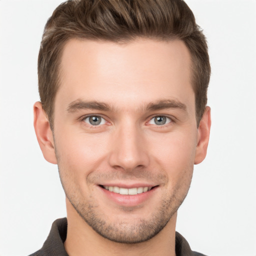
{"label": "plain white background surrounding the smiling man", "polygon": [[[65,216],[57,166],[33,131],[37,54],[61,0],[0,0],[0,256],[42,246]],[[212,129],[177,231],[211,256],[256,255],[256,0],[187,0],[208,38]]]}

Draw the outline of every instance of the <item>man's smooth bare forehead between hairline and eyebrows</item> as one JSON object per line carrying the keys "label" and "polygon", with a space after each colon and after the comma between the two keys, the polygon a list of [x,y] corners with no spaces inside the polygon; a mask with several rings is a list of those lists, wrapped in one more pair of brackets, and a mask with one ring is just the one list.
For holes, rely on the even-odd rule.
{"label": "man's smooth bare forehead between hairline and eyebrows", "polygon": [[190,54],[181,40],[71,39],[64,46],[55,104],[82,99],[127,108],[171,98],[194,103]]}

